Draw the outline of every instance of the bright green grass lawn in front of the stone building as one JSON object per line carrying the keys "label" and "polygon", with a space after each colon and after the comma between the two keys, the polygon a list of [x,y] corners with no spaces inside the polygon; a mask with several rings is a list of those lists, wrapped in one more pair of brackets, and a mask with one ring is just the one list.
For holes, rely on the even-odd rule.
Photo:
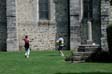
{"label": "bright green grass lawn in front of the stone building", "polygon": [[56,51],[33,51],[29,59],[24,52],[0,52],[0,74],[112,74],[112,63],[69,63]]}

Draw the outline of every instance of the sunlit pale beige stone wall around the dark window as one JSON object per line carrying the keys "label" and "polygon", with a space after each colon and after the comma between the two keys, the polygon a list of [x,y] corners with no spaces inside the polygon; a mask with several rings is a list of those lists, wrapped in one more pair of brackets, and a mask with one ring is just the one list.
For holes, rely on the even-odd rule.
{"label": "sunlit pale beige stone wall around the dark window", "polygon": [[[51,10],[55,9],[51,1]],[[31,48],[34,50],[47,50],[55,48],[56,25],[54,12],[51,20],[39,20],[38,0],[17,0],[17,26],[19,48],[22,49],[23,38],[28,35]]]}

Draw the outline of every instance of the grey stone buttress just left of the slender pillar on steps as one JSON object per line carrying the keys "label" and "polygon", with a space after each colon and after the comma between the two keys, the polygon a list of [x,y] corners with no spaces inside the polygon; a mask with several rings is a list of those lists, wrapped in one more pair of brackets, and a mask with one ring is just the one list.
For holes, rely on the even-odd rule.
{"label": "grey stone buttress just left of the slender pillar on steps", "polygon": [[80,39],[80,1],[70,0],[70,48],[77,49],[81,44]]}

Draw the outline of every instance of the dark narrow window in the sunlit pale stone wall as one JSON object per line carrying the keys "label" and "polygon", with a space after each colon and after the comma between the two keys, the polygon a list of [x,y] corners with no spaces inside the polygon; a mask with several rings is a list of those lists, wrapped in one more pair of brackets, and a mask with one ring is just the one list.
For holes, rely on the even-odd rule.
{"label": "dark narrow window in the sunlit pale stone wall", "polygon": [[49,1],[39,0],[39,19],[48,20],[49,18]]}

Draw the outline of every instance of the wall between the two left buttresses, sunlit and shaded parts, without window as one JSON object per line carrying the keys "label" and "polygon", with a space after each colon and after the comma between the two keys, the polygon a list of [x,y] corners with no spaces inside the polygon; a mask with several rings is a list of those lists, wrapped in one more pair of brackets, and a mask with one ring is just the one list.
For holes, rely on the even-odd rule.
{"label": "wall between the two left buttresses, sunlit and shaded parts, without window", "polygon": [[66,38],[67,44],[66,1],[50,0],[50,19],[43,21],[39,20],[38,0],[17,0],[16,19],[20,49],[23,48],[22,39],[25,35],[29,35],[31,48],[34,50],[55,49],[55,41],[60,33]]}

